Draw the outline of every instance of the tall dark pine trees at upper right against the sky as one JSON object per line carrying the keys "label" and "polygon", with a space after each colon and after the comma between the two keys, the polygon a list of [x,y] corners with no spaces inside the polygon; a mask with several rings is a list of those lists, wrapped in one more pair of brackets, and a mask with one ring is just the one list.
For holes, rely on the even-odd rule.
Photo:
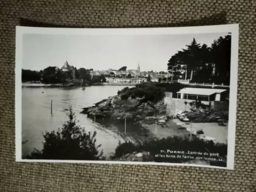
{"label": "tall dark pine trees at upper right against the sky", "polygon": [[[168,70],[174,69],[174,80],[230,84],[231,36],[214,40],[211,47],[198,44],[193,38],[186,49],[174,54],[168,61]],[[182,73],[184,72],[184,73]]]}

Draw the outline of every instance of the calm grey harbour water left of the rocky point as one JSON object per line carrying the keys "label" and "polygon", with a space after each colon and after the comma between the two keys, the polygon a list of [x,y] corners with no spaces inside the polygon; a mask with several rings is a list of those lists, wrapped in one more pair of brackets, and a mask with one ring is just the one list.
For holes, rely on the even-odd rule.
{"label": "calm grey harbour water left of the rocky point", "polygon": [[[102,144],[104,155],[109,156],[124,141],[124,123],[113,124],[112,121],[94,120],[80,114],[81,108],[92,106],[108,96],[116,95],[126,86],[90,86],[81,88],[22,88],[22,156],[30,154],[34,148],[41,150],[45,131],[58,130],[67,118],[66,109],[72,105],[78,124],[86,131],[97,131],[96,139]],[[133,87],[133,86],[130,86]],[[52,113],[50,113],[53,100]],[[145,131],[145,130],[144,130]],[[142,130],[138,125],[126,125],[126,139],[140,138]]]}

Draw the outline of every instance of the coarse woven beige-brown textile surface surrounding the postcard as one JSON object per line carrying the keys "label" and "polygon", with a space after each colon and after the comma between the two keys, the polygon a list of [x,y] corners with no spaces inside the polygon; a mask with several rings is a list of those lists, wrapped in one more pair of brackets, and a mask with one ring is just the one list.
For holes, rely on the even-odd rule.
{"label": "coarse woven beige-brown textile surface surrounding the postcard", "polygon": [[[2,0],[0,191],[256,191],[254,0]],[[235,169],[15,162],[15,26],[158,27],[240,24]],[[235,93],[234,93],[235,94]]]}

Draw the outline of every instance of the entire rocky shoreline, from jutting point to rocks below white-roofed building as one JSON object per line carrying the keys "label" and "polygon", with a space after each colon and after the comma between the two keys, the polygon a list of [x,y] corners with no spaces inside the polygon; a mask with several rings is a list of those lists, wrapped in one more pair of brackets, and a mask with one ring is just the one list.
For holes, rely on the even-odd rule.
{"label": "entire rocky shoreline, from jutting point to rocks below white-roofed building", "polygon": [[140,124],[160,124],[167,126],[166,122],[178,118],[182,122],[206,123],[214,122],[220,126],[226,126],[228,122],[228,110],[213,110],[202,108],[191,108],[190,111],[183,111],[176,116],[166,114],[164,100],[156,103],[144,102],[143,98],[131,98],[122,100],[120,95],[110,96],[107,99],[97,102],[94,106],[83,108],[82,114],[90,118],[107,118],[112,120],[132,121]]}

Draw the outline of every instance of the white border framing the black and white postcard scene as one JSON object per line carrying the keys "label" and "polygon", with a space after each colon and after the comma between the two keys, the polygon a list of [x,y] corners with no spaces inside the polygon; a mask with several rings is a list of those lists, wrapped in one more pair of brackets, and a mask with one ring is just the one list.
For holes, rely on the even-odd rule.
{"label": "white border framing the black and white postcard scene", "polygon": [[[37,28],[16,26],[16,58],[15,58],[15,144],[16,162],[65,162],[65,163],[100,163],[100,164],[144,164],[196,166],[207,168],[234,169],[235,136],[236,136],[236,105],[238,83],[238,24],[174,27],[174,28]],[[86,160],[26,160],[22,159],[22,36],[23,34],[56,34],[56,35],[164,35],[164,34],[205,34],[231,33],[231,66],[230,66],[230,102],[228,120],[228,155],[227,167],[177,164],[158,162],[120,162],[120,161],[86,161]]]}

